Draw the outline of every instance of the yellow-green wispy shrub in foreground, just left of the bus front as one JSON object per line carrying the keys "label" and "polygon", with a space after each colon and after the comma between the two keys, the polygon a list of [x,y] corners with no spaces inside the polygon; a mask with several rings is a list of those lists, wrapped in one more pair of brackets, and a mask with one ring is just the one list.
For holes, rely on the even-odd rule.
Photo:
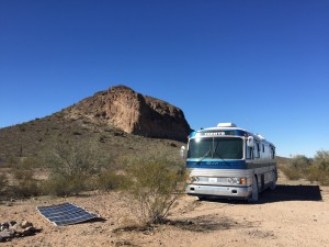
{"label": "yellow-green wispy shrub in foreground, just left of the bus front", "polygon": [[185,170],[163,158],[137,158],[131,160],[126,173],[139,223],[163,222],[184,190]]}

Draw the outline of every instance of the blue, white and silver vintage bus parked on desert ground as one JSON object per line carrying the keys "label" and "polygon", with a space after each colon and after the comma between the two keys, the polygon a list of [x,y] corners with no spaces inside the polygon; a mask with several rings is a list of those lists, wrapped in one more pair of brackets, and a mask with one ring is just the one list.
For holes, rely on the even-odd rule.
{"label": "blue, white and silver vintage bus parked on desert ground", "polygon": [[185,149],[189,195],[258,201],[276,187],[275,146],[232,123],[192,132]]}

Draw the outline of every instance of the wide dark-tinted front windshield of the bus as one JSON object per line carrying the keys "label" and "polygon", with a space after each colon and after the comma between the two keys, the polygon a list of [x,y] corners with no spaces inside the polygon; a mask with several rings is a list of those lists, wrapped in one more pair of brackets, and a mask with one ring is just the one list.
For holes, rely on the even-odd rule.
{"label": "wide dark-tinted front windshield of the bus", "polygon": [[189,143],[188,158],[242,159],[243,143],[239,137],[203,137]]}

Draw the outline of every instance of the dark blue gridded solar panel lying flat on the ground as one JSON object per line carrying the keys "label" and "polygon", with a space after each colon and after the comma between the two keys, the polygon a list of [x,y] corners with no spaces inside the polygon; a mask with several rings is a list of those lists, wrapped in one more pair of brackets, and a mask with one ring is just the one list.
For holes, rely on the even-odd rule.
{"label": "dark blue gridded solar panel lying flat on the ground", "polygon": [[99,217],[98,214],[89,213],[69,202],[52,206],[37,206],[36,209],[41,215],[57,226],[82,223]]}

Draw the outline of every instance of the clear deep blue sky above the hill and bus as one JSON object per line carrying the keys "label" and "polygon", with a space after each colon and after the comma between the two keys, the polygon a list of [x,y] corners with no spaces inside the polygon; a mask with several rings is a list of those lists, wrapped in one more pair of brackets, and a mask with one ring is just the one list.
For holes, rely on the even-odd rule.
{"label": "clear deep blue sky above the hill and bus", "polygon": [[116,85],[313,157],[329,150],[329,1],[0,0],[0,127]]}

